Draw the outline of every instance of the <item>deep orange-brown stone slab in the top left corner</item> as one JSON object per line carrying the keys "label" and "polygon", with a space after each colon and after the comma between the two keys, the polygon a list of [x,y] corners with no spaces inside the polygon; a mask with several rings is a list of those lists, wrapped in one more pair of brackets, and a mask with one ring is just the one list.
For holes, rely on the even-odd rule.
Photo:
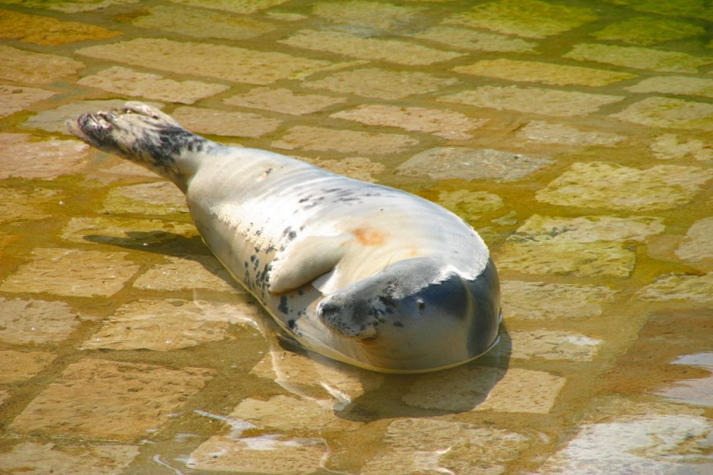
{"label": "deep orange-brown stone slab in the top left corner", "polygon": [[61,21],[49,16],[27,15],[0,9],[0,39],[41,46],[59,46],[78,41],[112,38],[121,33],[101,26]]}

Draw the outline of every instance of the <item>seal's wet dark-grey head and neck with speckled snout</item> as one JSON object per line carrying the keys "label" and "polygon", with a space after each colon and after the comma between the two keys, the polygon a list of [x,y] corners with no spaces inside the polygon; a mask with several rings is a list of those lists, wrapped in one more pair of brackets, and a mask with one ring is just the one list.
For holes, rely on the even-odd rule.
{"label": "seal's wet dark-grey head and neck with speckled snout", "polygon": [[[448,367],[496,342],[500,290],[492,261],[473,281],[430,258],[406,259],[326,296],[317,318],[358,340],[375,367]],[[436,360],[434,361],[434,355]]]}

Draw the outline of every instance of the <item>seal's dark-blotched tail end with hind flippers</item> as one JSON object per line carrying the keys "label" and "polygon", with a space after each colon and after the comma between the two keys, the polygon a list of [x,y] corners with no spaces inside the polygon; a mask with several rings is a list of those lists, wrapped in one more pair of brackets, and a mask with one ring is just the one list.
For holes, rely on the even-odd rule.
{"label": "seal's dark-blotched tail end with hind flippers", "polygon": [[80,140],[148,168],[184,192],[196,161],[216,145],[188,132],[160,110],[138,102],[109,112],[86,113],[66,125]]}

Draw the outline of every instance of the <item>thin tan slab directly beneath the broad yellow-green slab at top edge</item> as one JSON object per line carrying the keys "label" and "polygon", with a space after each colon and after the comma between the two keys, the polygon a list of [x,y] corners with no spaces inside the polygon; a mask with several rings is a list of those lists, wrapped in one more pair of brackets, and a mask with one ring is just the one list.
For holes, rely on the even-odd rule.
{"label": "thin tan slab directly beneath the broad yellow-green slab at top edge", "polygon": [[421,33],[413,33],[412,36],[469,51],[535,53],[535,48],[538,47],[538,43],[523,40],[522,38],[473,31],[466,28],[454,28],[453,26],[434,26]]}

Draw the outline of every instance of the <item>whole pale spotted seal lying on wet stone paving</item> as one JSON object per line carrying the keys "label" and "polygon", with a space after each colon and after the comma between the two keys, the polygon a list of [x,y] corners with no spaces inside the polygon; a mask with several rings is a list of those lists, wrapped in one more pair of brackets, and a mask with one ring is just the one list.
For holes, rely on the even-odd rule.
{"label": "whole pale spotted seal lying on wet stone paving", "polygon": [[84,142],[169,179],[205,244],[307,350],[379,372],[461,365],[498,343],[486,244],[438,205],[126,103],[68,120]]}

